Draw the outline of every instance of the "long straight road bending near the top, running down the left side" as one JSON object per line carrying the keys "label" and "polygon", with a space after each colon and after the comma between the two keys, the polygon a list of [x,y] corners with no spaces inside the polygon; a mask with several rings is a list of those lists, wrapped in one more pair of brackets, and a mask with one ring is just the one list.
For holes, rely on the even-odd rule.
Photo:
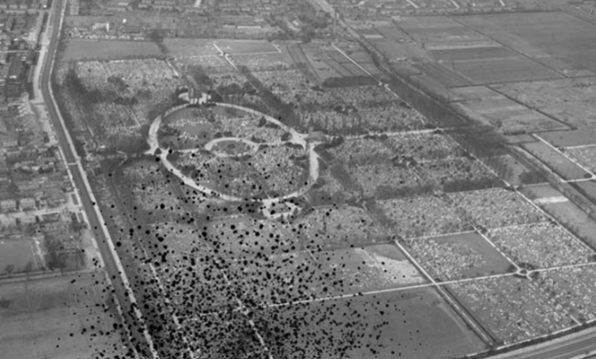
{"label": "long straight road bending near the top, running down the left side", "polygon": [[[109,238],[109,233],[106,231],[105,223],[100,219],[101,214],[99,213],[98,208],[95,207],[96,203],[92,199],[94,196],[89,187],[86,173],[60,117],[60,113],[56,108],[51,89],[52,67],[60,40],[65,1],[66,0],[53,1],[52,12],[54,19],[53,26],[51,27],[52,33],[48,52],[41,74],[41,93],[53,124],[61,152],[68,164],[68,169],[72,175],[71,178],[78,191],[79,198],[81,199],[82,207],[87,214],[89,226],[93,229],[97,246],[103,259],[105,271],[111,281],[116,300],[118,301],[120,308],[123,310],[123,324],[128,327],[128,331],[132,335],[131,341],[133,342],[133,345],[137,349],[140,349],[139,352],[142,353],[146,352],[146,349],[142,348],[153,348],[152,340],[147,336],[146,327],[143,321],[139,320],[140,315],[138,313],[138,308],[134,304],[136,300],[127,286],[128,280],[126,274],[121,270],[122,265],[120,264],[119,258],[117,258],[117,254],[115,254],[113,250],[113,243]],[[51,26],[51,24],[48,24],[48,26]],[[50,28],[48,28],[48,30],[50,30]],[[152,352],[155,354],[153,350]],[[153,357],[155,357],[155,355],[153,355]]]}

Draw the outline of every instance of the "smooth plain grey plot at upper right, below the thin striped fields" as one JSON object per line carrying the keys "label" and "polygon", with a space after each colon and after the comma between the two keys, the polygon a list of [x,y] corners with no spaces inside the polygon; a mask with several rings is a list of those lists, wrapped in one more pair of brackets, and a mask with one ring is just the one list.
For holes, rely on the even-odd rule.
{"label": "smooth plain grey plot at upper right, below the thin striped fields", "polygon": [[454,68],[476,84],[538,81],[561,78],[556,72],[526,58],[457,61]]}

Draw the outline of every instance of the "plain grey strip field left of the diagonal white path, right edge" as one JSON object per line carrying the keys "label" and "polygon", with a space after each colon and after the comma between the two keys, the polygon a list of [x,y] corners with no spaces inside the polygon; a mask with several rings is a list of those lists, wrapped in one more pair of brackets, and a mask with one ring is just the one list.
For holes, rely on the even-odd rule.
{"label": "plain grey strip field left of the diagonal white path, right edge", "polygon": [[525,143],[522,147],[566,180],[591,177],[588,172],[544,142]]}

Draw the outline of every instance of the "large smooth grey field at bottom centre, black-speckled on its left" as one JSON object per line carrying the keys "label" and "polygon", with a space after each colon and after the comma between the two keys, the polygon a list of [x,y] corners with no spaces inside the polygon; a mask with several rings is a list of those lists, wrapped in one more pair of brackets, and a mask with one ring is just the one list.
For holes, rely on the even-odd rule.
{"label": "large smooth grey field at bottom centre, black-speckled on its left", "polygon": [[[345,350],[354,358],[446,359],[483,348],[434,289],[272,308],[255,322],[280,357],[299,352],[331,359]],[[330,340],[317,343],[321,337]]]}

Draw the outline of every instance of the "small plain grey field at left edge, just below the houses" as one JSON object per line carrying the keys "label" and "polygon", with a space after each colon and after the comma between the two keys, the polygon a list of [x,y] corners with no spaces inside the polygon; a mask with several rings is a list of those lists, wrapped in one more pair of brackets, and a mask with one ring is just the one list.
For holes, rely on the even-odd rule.
{"label": "small plain grey field at left edge, just below the houses", "polygon": [[6,274],[7,266],[13,266],[13,272],[23,271],[27,263],[31,270],[39,269],[41,260],[36,253],[33,240],[0,240],[0,275]]}

